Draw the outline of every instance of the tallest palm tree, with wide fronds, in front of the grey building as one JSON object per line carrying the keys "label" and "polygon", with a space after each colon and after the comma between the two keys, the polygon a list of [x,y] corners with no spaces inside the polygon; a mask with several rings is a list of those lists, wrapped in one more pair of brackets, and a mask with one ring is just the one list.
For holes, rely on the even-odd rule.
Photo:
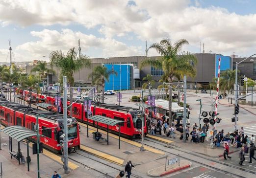
{"label": "tallest palm tree, with wide fronds, in front of the grey building", "polygon": [[[197,58],[191,53],[182,53],[181,47],[188,45],[185,39],[178,40],[175,44],[171,43],[170,39],[161,40],[160,43],[155,43],[149,47],[154,48],[161,57],[155,59],[145,59],[140,68],[145,66],[153,66],[157,69],[162,69],[168,78],[168,82],[172,82],[177,75],[186,74],[191,77],[196,76]],[[181,54],[181,55],[179,55]],[[169,87],[169,118],[172,118],[172,87]],[[170,119],[171,123],[172,119]]]}

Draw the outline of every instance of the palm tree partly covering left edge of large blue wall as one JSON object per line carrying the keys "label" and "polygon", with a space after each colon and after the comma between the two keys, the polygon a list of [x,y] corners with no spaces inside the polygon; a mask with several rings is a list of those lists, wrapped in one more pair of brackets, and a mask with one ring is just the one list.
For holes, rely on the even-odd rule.
{"label": "palm tree partly covering left edge of large blue wall", "polygon": [[109,81],[110,74],[117,75],[115,70],[107,70],[105,66],[94,67],[93,72],[88,76],[92,79],[92,83],[102,86],[102,103],[104,103],[105,82]]}

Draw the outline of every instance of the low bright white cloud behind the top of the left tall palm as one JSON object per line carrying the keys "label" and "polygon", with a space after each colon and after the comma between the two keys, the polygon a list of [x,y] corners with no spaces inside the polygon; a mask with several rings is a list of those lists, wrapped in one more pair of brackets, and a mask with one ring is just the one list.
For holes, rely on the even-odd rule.
{"label": "low bright white cloud behind the top of the left tall palm", "polygon": [[16,47],[19,52],[33,54],[32,59],[41,59],[42,56],[49,56],[51,51],[62,50],[66,53],[71,47],[77,46],[78,39],[81,41],[81,49],[87,51],[92,48],[102,50],[102,56],[94,52],[85,52],[90,57],[117,57],[128,55],[140,55],[141,48],[137,46],[127,46],[126,44],[110,38],[97,38],[94,35],[86,35],[71,29],[56,30],[44,29],[43,31],[32,31],[31,35],[40,38],[36,42],[27,42]]}

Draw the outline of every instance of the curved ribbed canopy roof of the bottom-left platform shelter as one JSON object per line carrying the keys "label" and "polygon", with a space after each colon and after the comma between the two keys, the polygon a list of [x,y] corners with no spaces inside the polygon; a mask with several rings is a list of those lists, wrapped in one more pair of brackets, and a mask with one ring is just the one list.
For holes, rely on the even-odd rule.
{"label": "curved ribbed canopy roof of the bottom-left platform shelter", "polygon": [[26,127],[22,127],[22,126],[6,127],[4,129],[2,129],[1,132],[14,138],[18,142],[20,142],[28,137],[36,136],[36,133],[34,131],[31,131],[31,130],[27,129]]}

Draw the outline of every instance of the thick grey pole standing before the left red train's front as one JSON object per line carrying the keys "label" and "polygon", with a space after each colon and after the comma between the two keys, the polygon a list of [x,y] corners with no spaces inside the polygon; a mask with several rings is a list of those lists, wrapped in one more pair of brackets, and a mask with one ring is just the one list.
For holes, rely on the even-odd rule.
{"label": "thick grey pole standing before the left red train's front", "polygon": [[[71,107],[72,108],[72,107]],[[64,125],[64,173],[68,174],[69,161],[68,161],[68,113],[67,113],[67,77],[63,76],[63,125]]]}

